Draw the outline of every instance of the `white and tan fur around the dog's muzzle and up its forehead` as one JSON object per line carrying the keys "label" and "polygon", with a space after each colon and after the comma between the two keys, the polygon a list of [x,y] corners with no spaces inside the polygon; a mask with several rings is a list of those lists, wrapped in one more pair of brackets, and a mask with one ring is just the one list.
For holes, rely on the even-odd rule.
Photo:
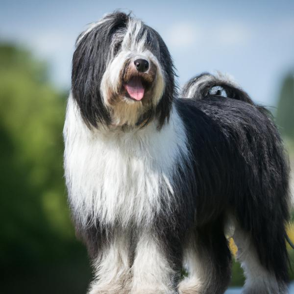
{"label": "white and tan fur around the dog's muzzle and up its forehead", "polygon": [[[135,59],[146,59],[149,64],[153,64],[157,71],[152,90],[152,105],[157,105],[163,95],[165,88],[165,78],[160,63],[151,51],[146,49],[146,35],[138,40],[138,33],[142,27],[139,20],[130,20],[126,33],[123,37],[121,51],[109,60],[108,66],[101,80],[100,92],[106,108],[112,114],[112,121],[115,125],[134,125],[144,112],[142,101],[133,101],[127,97],[117,105],[109,103],[109,95],[120,95],[122,91],[122,73],[128,64],[132,64]],[[144,98],[143,98],[144,99]]]}

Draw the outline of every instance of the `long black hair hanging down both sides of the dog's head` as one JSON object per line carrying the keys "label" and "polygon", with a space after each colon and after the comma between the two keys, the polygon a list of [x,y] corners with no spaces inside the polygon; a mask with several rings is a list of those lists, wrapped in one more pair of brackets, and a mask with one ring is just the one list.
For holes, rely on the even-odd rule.
{"label": "long black hair hanging down both sides of the dog's head", "polygon": [[[76,49],[73,53],[72,93],[77,101],[81,115],[89,127],[98,127],[99,123],[109,125],[111,118],[103,104],[100,94],[100,83],[107,62],[113,58],[120,48],[120,43],[112,44],[115,33],[125,32],[130,14],[115,12],[107,15],[101,22],[83,38],[79,35]],[[161,36],[151,27],[143,24],[137,38],[146,33],[149,49],[159,60],[165,75],[165,90],[155,109],[148,109],[139,119],[137,125],[149,123],[154,117],[158,127],[169,120],[172,100],[176,97],[174,67],[170,52]],[[81,40],[80,40],[81,38]],[[112,51],[111,46],[116,48]]]}

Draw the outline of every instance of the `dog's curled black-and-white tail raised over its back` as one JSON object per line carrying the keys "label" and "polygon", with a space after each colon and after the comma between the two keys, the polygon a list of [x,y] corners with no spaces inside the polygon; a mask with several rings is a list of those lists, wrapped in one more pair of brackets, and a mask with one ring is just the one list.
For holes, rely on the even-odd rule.
{"label": "dog's curled black-and-white tail raised over its back", "polygon": [[222,73],[196,75],[184,85],[181,97],[190,99],[225,97],[254,104],[248,94],[231,77]]}

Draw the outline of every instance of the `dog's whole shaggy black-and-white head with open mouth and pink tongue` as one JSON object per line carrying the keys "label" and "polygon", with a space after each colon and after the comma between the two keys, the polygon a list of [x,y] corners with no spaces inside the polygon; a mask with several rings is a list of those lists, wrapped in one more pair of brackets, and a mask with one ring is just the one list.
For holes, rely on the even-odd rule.
{"label": "dog's whole shaggy black-and-white head with open mouth and pink tongue", "polygon": [[122,12],[81,33],[72,93],[88,126],[162,126],[175,95],[170,53],[159,34]]}

